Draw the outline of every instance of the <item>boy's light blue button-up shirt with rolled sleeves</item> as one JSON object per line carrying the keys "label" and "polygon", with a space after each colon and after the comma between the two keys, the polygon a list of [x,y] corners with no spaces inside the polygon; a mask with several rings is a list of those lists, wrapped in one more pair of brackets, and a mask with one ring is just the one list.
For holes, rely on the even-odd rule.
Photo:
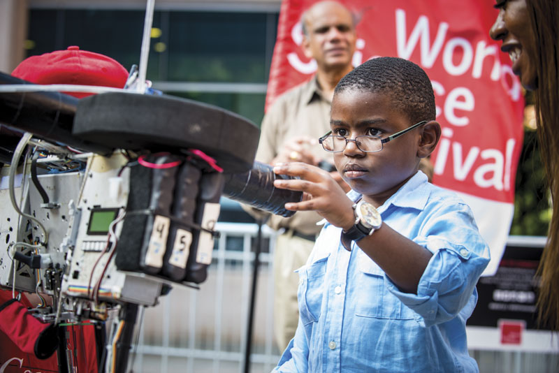
{"label": "boy's light blue button-up shirt with rolled sleeves", "polygon": [[489,249],[470,207],[420,171],[377,210],[433,253],[417,295],[399,291],[355,243],[345,250],[341,229],[326,224],[297,271],[298,328],[274,372],[479,372],[465,323]]}

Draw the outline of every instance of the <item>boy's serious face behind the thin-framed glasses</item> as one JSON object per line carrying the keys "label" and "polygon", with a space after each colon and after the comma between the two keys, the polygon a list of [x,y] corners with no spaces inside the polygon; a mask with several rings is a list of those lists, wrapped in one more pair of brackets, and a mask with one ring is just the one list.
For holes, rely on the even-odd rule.
{"label": "boy's serious face behind the thin-framed glasses", "polygon": [[[333,135],[354,139],[369,135],[386,138],[412,124],[406,115],[395,110],[386,94],[349,89],[334,95],[331,109]],[[351,189],[365,200],[382,205],[400,186],[416,173],[420,129],[386,142],[380,152],[362,152],[355,142],[348,142],[343,152],[334,153],[334,163]]]}

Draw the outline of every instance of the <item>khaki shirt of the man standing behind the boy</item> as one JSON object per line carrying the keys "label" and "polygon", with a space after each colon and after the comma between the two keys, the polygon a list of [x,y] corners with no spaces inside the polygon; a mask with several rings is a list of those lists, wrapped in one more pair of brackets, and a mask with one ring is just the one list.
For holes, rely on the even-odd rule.
{"label": "khaki shirt of the man standing behind the boy", "polygon": [[[284,142],[300,136],[317,139],[312,152],[321,159],[333,162],[331,153],[318,143],[320,136],[330,131],[331,101],[324,98],[314,76],[279,96],[262,120],[261,135],[256,161],[270,163],[279,153]],[[322,218],[314,211],[298,211],[293,217],[273,215],[268,225],[274,229],[291,228],[305,235],[317,235]]]}

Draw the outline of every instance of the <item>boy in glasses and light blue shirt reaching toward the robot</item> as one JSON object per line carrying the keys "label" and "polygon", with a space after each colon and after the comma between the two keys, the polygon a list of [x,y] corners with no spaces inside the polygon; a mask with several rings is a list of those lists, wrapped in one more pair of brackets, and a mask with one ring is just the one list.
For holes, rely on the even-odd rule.
{"label": "boy in glasses and light blue shirt reaching toward the robot", "polygon": [[489,261],[472,212],[418,171],[440,138],[426,73],[372,59],[335,88],[331,133],[347,195],[328,173],[286,163],[275,186],[305,192],[288,210],[327,223],[298,270],[299,323],[276,372],[478,372],[465,322]]}

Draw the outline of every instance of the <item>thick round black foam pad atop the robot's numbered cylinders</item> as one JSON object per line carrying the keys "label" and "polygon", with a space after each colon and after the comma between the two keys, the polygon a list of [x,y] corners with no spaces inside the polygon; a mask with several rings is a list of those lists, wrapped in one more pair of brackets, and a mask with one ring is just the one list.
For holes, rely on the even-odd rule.
{"label": "thick round black foam pad atop the robot's numbered cylinders", "polygon": [[249,120],[212,105],[126,92],[82,98],[72,133],[115,149],[200,149],[226,173],[252,168],[260,135]]}

